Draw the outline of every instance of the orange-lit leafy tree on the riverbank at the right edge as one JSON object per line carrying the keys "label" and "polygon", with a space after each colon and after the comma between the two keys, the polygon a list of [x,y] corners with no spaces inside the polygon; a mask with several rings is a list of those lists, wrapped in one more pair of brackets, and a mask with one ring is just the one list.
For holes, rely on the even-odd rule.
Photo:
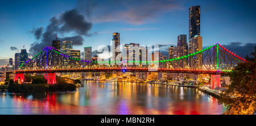
{"label": "orange-lit leafy tree on the riverbank at the right edge", "polygon": [[228,89],[221,94],[219,103],[224,103],[228,110],[224,114],[253,114],[255,110],[255,53],[251,53],[253,58],[247,57],[248,62],[238,63],[230,73],[232,83]]}

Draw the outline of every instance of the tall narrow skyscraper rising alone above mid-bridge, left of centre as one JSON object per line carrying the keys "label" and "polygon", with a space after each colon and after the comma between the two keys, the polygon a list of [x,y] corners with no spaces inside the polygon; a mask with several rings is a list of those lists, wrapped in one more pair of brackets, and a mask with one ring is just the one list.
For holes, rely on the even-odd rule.
{"label": "tall narrow skyscraper rising alone above mid-bridge, left of centre", "polygon": [[[113,33],[113,39],[112,39],[113,43],[112,43],[112,46],[113,46],[113,52],[112,52],[112,56],[113,58],[117,57],[117,55],[119,54],[120,52],[120,33],[118,32],[115,32]],[[114,51],[115,49],[115,51]]]}

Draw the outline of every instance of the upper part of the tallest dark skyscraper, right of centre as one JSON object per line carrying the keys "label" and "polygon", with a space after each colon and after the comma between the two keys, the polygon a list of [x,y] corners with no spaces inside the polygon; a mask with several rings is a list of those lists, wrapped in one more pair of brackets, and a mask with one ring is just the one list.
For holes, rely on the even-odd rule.
{"label": "upper part of the tallest dark skyscraper, right of centre", "polygon": [[189,40],[196,35],[200,36],[200,6],[189,8]]}

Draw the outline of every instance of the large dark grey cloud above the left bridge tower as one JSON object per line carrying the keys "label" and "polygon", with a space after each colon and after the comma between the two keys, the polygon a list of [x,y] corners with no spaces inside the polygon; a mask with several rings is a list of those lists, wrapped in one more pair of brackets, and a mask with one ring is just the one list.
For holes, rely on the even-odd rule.
{"label": "large dark grey cloud above the left bridge tower", "polygon": [[89,33],[92,28],[92,23],[86,21],[84,15],[80,14],[77,9],[72,9],[63,12],[59,17],[52,17],[49,21],[46,30],[43,32],[43,28],[34,28],[32,33],[34,33],[37,41],[33,42],[30,47],[31,54],[37,54],[45,46],[51,46],[52,41],[55,40],[56,32],[61,34],[72,33],[75,36],[69,37],[58,37],[58,40],[73,41],[73,45],[82,45],[84,38],[82,36],[91,36],[94,33]]}

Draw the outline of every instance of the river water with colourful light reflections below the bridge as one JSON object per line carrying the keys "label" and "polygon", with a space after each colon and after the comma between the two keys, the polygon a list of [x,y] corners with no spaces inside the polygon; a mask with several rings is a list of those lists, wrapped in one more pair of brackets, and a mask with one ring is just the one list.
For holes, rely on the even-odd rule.
{"label": "river water with colourful light reflections below the bridge", "polygon": [[0,93],[0,114],[222,114],[217,98],[194,88],[82,81],[73,92]]}

